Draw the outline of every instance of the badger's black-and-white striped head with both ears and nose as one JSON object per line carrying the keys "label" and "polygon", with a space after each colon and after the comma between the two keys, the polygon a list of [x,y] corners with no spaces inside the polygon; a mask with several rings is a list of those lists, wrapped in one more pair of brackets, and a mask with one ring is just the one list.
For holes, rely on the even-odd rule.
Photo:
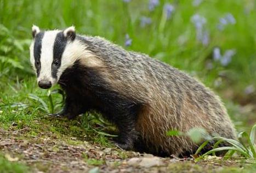
{"label": "badger's black-and-white striped head with both ears and nose", "polygon": [[75,27],[40,31],[33,26],[32,37],[30,61],[36,71],[38,86],[47,89],[57,83],[63,71],[76,61],[77,55],[73,52]]}

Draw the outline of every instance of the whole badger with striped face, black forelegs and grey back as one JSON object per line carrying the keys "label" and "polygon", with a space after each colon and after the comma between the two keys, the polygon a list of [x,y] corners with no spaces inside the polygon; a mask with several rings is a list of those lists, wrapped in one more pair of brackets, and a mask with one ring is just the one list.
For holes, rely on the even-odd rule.
{"label": "whole badger with striped face, black forelegs and grey back", "polygon": [[99,112],[116,125],[116,143],[124,150],[185,156],[198,148],[188,136],[168,136],[168,130],[203,128],[236,139],[219,97],[194,77],[104,38],[78,35],[73,26],[53,31],[33,26],[32,37],[38,86],[58,83],[66,94],[55,115],[72,119]]}

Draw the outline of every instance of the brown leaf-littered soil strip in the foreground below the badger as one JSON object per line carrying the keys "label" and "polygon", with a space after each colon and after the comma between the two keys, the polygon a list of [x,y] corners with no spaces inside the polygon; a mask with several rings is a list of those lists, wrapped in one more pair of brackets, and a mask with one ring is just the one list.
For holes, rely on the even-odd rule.
{"label": "brown leaf-littered soil strip in the foreground below the badger", "polygon": [[4,159],[25,164],[31,172],[256,171],[255,164],[250,160],[224,161],[212,157],[195,163],[193,159],[159,158],[116,147],[101,147],[52,132],[37,135],[31,132],[33,131],[29,127],[0,129],[0,151]]}

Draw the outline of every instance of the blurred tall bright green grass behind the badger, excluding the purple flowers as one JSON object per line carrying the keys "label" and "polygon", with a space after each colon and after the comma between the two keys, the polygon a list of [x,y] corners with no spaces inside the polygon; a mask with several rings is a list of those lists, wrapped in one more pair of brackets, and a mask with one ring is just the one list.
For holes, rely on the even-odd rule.
{"label": "blurred tall bright green grass behind the badger, excluding the purple flowers", "polygon": [[[165,17],[163,6],[166,3],[175,8],[170,19]],[[236,23],[226,25],[220,31],[217,27],[220,18],[227,13],[234,15]],[[202,45],[196,39],[196,29],[191,22],[195,14],[206,19],[204,28],[209,33],[208,45]],[[140,23],[143,16],[151,19],[145,27]],[[32,24],[46,29],[75,25],[78,33],[100,35],[119,45],[124,45],[125,35],[129,34],[132,45],[127,49],[148,53],[186,70],[200,77],[208,86],[214,86],[214,81],[220,77],[223,84],[218,87],[232,85],[238,90],[256,81],[255,18],[253,0],[203,1],[197,7],[192,1],[160,1],[153,11],[148,9],[146,0],[128,3],[121,0],[0,2],[0,21],[15,40],[31,39]],[[3,44],[1,41],[0,45]],[[221,53],[227,49],[236,50],[227,67],[213,61],[215,46],[220,47]],[[15,62],[19,67],[29,56],[27,49],[20,51],[19,55],[14,53],[18,56]],[[26,64],[24,70],[28,68]]]}

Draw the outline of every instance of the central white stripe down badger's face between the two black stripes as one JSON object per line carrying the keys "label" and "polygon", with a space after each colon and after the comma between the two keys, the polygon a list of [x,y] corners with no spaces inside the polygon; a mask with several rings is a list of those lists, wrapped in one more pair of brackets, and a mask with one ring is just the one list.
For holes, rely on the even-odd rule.
{"label": "central white stripe down badger's face between the two black stripes", "polygon": [[47,31],[44,33],[42,39],[42,49],[41,49],[41,70],[37,78],[37,81],[42,79],[49,80],[52,84],[56,83],[55,79],[52,77],[52,63],[53,63],[53,47],[56,35],[59,30]]}

